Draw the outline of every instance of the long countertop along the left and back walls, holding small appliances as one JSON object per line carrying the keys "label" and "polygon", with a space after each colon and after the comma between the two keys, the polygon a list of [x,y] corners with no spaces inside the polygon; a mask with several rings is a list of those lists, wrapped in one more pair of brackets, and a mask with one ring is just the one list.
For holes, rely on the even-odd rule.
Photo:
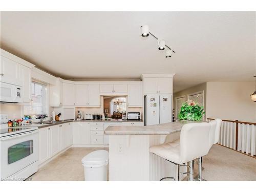
{"label": "long countertop along the left and back walls, holding small appliances", "polygon": [[48,127],[48,126],[54,126],[54,125],[58,125],[58,124],[63,124],[63,123],[68,123],[68,122],[76,122],[76,121],[86,121],[86,122],[143,122],[142,120],[115,120],[115,119],[110,119],[110,120],[85,120],[85,119],[81,119],[81,120],[63,120],[63,121],[55,121],[52,123],[49,123],[49,121],[43,121],[45,124],[39,124],[39,123],[32,123],[32,124],[26,124],[26,125],[22,125],[22,126],[16,126],[16,127],[38,127],[40,128],[44,128],[44,127]]}

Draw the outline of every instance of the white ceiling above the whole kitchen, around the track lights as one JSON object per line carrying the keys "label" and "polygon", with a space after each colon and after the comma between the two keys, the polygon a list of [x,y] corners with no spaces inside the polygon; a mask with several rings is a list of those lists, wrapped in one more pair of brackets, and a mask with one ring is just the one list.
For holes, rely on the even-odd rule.
{"label": "white ceiling above the whole kitchen, around the track lights", "polygon": [[[140,25],[167,41],[171,58]],[[1,48],[65,79],[176,73],[174,89],[253,81],[255,12],[1,12]]]}

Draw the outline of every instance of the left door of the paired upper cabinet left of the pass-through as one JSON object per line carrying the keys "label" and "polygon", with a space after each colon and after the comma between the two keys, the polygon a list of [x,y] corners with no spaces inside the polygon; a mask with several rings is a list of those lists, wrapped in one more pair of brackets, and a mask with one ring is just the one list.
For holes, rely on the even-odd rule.
{"label": "left door of the paired upper cabinet left of the pass-through", "polygon": [[85,106],[88,104],[88,84],[76,84],[76,106]]}

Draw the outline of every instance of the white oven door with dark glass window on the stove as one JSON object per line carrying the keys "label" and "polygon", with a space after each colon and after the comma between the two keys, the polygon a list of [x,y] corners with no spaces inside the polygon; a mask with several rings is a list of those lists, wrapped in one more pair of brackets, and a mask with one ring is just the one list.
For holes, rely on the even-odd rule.
{"label": "white oven door with dark glass window on the stove", "polygon": [[38,130],[1,138],[1,180],[38,161]]}

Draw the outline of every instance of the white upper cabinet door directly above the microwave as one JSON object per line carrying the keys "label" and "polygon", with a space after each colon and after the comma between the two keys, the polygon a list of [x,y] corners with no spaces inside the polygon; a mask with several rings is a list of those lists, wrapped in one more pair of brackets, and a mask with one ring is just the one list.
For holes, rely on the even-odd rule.
{"label": "white upper cabinet door directly above the microwave", "polygon": [[20,64],[9,58],[1,56],[0,81],[23,86],[20,77]]}

